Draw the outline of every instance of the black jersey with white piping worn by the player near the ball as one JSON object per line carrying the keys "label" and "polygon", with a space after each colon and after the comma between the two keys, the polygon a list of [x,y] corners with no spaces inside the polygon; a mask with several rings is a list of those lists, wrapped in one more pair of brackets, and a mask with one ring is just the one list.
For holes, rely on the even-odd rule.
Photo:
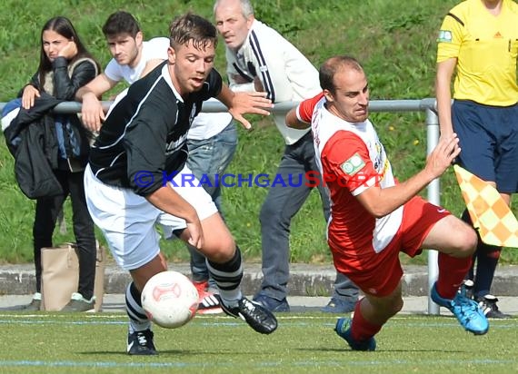
{"label": "black jersey with white piping worn by the player near the ball", "polygon": [[202,89],[183,99],[167,62],[158,65],[115,100],[90,151],[95,176],[142,196],[158,190],[184,167],[194,116],[221,88],[221,75],[213,69]]}

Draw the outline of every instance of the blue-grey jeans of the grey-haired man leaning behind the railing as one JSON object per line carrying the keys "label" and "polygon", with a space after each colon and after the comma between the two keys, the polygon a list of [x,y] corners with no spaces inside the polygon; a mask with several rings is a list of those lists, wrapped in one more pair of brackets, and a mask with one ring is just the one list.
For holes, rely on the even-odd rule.
{"label": "blue-grey jeans of the grey-haired man leaning behind the railing", "polygon": [[[316,170],[313,137],[310,132],[297,143],[286,146],[277,175],[281,175],[284,181],[289,181],[290,176]],[[295,181],[298,181],[297,178]],[[290,224],[312,189],[313,187],[304,182],[295,187],[284,187],[280,183],[270,187],[259,217],[263,246],[263,283],[258,293],[276,300],[286,297],[290,276]],[[322,199],[324,219],[329,221],[329,195],[322,181],[318,184],[318,192]],[[358,294],[359,290],[353,281],[337,272],[333,297],[354,303],[358,300]]]}

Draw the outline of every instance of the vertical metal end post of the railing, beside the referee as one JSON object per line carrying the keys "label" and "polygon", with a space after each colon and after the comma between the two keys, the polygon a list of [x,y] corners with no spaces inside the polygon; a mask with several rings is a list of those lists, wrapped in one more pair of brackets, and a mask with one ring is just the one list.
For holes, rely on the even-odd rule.
{"label": "vertical metal end post of the railing, beside the referee", "polygon": [[[439,118],[432,108],[426,109],[426,154],[432,153],[439,140]],[[433,204],[441,203],[441,185],[439,179],[435,179],[428,185],[428,201]],[[428,251],[428,314],[438,315],[439,306],[430,298],[430,290],[437,280],[439,268],[437,265],[438,252]]]}

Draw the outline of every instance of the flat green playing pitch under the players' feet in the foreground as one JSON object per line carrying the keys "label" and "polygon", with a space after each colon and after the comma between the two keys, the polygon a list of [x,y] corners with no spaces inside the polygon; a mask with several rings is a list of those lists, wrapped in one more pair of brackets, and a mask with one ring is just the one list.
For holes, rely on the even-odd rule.
{"label": "flat green playing pitch under the players' feet in the foreground", "polygon": [[334,333],[335,317],[289,313],[264,336],[241,320],[197,316],[177,330],[154,328],[157,357],[125,354],[118,314],[0,314],[2,373],[466,373],[518,371],[518,319],[492,320],[484,336],[449,317],[404,316],[377,336],[375,352],[354,352]]}

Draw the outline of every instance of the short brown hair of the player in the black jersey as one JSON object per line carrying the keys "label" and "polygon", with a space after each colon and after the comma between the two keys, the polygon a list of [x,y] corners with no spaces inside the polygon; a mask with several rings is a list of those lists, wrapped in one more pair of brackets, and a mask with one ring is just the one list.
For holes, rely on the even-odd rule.
{"label": "short brown hair of the player in the black jersey", "polygon": [[196,49],[205,49],[208,45],[217,45],[215,26],[199,15],[189,12],[174,18],[169,27],[169,40],[174,48],[180,44],[193,41]]}

